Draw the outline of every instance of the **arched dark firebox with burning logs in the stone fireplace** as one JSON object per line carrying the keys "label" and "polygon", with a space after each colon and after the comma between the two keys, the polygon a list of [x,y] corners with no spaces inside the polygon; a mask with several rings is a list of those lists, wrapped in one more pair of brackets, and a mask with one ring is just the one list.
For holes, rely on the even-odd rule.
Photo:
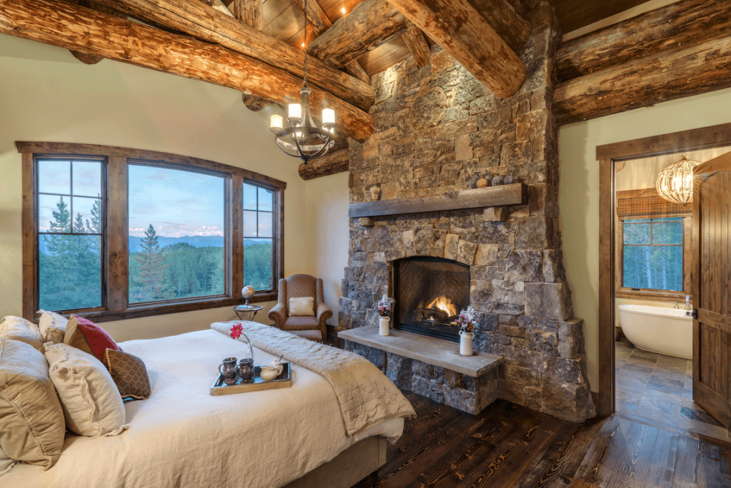
{"label": "arched dark firebox with burning logs in the stone fireplace", "polygon": [[393,266],[395,329],[459,342],[451,322],[469,305],[469,266],[417,256]]}

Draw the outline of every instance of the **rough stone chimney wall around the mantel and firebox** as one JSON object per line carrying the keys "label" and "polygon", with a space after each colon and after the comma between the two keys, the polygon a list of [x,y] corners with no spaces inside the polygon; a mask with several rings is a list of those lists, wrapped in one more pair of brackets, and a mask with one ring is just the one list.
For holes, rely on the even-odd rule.
{"label": "rough stone chimney wall around the mantel and firebox", "polygon": [[489,172],[526,183],[529,204],[351,219],[338,327],[377,324],[376,302],[393,296],[395,259],[469,264],[470,301],[480,312],[475,347],[505,359],[499,396],[582,422],[595,411],[558,231],[551,102],[560,37],[548,2],[530,3],[534,28],[520,53],[528,75],[517,94],[497,99],[435,46],[428,66],[409,58],[374,76],[376,131],[363,145],[350,141],[349,168],[351,202],[368,201],[373,185],[382,199],[442,194]]}

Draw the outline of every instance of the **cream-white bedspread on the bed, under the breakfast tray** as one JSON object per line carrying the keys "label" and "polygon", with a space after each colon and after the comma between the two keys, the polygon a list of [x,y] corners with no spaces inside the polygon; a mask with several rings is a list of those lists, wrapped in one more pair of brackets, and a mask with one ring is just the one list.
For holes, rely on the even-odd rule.
{"label": "cream-white bedspread on the bed, under the breakfast tray", "polygon": [[[153,389],[125,403],[130,429],[69,437],[53,468],[18,465],[0,487],[281,487],[368,435],[395,441],[404,427],[396,418],[346,436],[333,387],[299,365],[291,388],[211,396],[221,359],[249,348],[215,330],[121,347],[145,361]],[[254,348],[254,364],[272,359]]]}

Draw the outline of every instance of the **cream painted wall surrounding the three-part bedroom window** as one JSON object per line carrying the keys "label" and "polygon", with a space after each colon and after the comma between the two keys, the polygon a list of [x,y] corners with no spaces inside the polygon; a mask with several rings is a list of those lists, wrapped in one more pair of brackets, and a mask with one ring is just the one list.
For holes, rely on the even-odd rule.
{"label": "cream painted wall surrounding the three-part bedroom window", "polygon": [[[87,66],[67,50],[0,34],[0,317],[21,313],[16,140],[159,150],[284,180],[285,275],[314,274],[309,257],[314,235],[298,161],[276,148],[268,121],[246,109],[238,91],[109,60]],[[274,304],[262,305],[257,321],[268,322],[266,313]],[[115,339],[129,340],[235,318],[230,308],[219,308],[105,322],[104,327]]]}

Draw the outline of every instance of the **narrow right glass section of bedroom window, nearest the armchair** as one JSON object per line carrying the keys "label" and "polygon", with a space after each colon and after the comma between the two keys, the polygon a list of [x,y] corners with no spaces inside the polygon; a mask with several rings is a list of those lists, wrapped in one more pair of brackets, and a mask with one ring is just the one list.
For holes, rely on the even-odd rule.
{"label": "narrow right glass section of bedroom window, nearest the armchair", "polygon": [[243,183],[243,283],[257,291],[274,288],[273,205],[272,190]]}

